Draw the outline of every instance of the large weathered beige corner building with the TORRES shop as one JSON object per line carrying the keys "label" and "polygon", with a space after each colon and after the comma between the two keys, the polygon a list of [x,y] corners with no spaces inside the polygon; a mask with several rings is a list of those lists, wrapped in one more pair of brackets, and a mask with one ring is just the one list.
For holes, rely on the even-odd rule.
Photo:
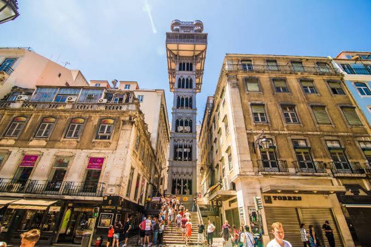
{"label": "large weathered beige corner building with the TORRES shop", "polygon": [[331,59],[227,54],[209,102],[201,194],[221,206],[220,221],[251,225],[264,244],[280,221],[301,246],[300,223],[324,245],[329,220],[336,246],[355,246],[338,198],[370,191],[362,147],[371,132]]}

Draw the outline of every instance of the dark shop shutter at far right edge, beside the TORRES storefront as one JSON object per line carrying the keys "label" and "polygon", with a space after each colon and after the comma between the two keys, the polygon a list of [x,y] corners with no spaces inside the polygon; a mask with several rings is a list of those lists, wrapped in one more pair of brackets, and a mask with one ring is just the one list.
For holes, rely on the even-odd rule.
{"label": "dark shop shutter at far right edge, beside the TORRES storefront", "polygon": [[361,246],[369,246],[371,243],[370,224],[371,208],[347,208],[352,220],[358,242]]}

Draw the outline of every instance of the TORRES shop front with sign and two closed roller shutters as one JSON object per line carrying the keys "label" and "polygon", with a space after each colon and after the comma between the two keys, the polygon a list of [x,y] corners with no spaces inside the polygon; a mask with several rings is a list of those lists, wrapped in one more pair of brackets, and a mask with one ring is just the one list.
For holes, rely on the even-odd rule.
{"label": "TORRES shop front with sign and two closed roller shutters", "polygon": [[336,205],[338,202],[335,194],[279,193],[262,194],[262,196],[268,230],[265,234],[269,234],[270,239],[274,238],[270,226],[279,221],[285,229],[285,240],[288,240],[292,246],[302,246],[299,228],[301,223],[305,223],[307,231],[309,225],[313,225],[322,246],[328,246],[327,238],[322,230],[322,225],[325,220],[328,220],[334,233],[336,246],[344,246],[337,219],[337,216],[342,217],[342,213]]}

